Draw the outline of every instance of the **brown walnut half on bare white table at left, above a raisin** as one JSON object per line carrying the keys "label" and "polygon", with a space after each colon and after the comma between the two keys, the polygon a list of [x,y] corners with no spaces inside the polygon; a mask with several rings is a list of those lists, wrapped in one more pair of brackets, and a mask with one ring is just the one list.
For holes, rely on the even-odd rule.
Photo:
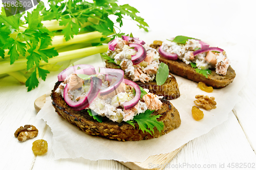
{"label": "brown walnut half on bare white table at left, above a raisin", "polygon": [[25,125],[24,127],[19,127],[14,136],[18,138],[19,141],[25,141],[29,138],[36,137],[38,130],[33,125]]}

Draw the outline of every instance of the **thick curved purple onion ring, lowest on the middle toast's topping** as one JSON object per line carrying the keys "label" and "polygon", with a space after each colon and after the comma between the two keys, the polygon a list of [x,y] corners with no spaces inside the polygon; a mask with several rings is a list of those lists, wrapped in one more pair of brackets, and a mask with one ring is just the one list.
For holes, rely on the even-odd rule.
{"label": "thick curved purple onion ring, lowest on the middle toast's topping", "polygon": [[146,58],[146,50],[141,44],[131,43],[129,44],[130,47],[134,47],[137,50],[137,53],[132,56],[133,65],[137,65]]}

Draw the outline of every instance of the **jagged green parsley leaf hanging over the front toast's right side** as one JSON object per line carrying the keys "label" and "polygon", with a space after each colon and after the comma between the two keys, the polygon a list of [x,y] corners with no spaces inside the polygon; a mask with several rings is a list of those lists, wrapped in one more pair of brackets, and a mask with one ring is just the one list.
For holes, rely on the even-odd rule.
{"label": "jagged green parsley leaf hanging over the front toast's right side", "polygon": [[134,123],[137,122],[139,125],[139,129],[142,130],[143,133],[148,132],[152,135],[154,134],[154,127],[157,127],[157,130],[161,132],[164,127],[163,122],[158,122],[157,118],[162,115],[151,115],[155,110],[146,110],[144,113],[140,113],[134,116],[133,120],[128,120],[126,123],[134,126]]}

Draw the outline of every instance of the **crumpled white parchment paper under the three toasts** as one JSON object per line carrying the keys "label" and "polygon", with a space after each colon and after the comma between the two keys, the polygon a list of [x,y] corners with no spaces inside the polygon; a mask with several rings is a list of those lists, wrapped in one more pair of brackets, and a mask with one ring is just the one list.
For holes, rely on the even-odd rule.
{"label": "crumpled white parchment paper under the three toasts", "polygon": [[[53,151],[55,159],[60,158],[78,158],[83,157],[90,160],[108,159],[123,162],[142,162],[152,155],[169,153],[181,147],[184,143],[199,137],[212,128],[220,125],[227,120],[228,113],[234,105],[239,102],[238,92],[244,85],[244,75],[247,72],[246,61],[240,61],[240,53],[237,49],[246,54],[245,48],[241,44],[224,43],[225,49],[231,66],[236,71],[236,78],[227,87],[214,89],[214,92],[207,93],[197,87],[197,83],[175,76],[179,84],[181,96],[176,100],[170,101],[179,111],[181,117],[181,126],[166,135],[159,138],[143,141],[113,141],[94,137],[78,130],[67,120],[60,117],[51,104],[51,99],[47,98],[45,106],[38,112],[37,118],[42,118],[51,127],[53,132]],[[102,66],[102,60],[99,55],[85,58],[74,64],[93,64]],[[57,77],[56,77],[57,82]],[[52,82],[52,88],[54,87]],[[191,107],[195,106],[195,95],[204,94],[214,96],[217,102],[217,108],[210,111],[204,111],[204,118],[196,121],[191,116]]]}

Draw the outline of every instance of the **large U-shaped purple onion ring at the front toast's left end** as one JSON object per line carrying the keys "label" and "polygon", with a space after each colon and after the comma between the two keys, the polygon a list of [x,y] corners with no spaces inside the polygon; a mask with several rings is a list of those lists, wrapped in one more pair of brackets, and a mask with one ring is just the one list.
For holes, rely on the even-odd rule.
{"label": "large U-shaped purple onion ring at the front toast's left end", "polygon": [[89,90],[87,91],[87,94],[80,99],[78,102],[73,102],[69,99],[68,90],[69,90],[69,84],[66,85],[64,92],[63,92],[63,98],[65,102],[72,107],[74,110],[82,110],[87,108],[90,103],[96,98],[100,91],[102,80],[97,77],[91,77],[91,84],[89,87]]}

